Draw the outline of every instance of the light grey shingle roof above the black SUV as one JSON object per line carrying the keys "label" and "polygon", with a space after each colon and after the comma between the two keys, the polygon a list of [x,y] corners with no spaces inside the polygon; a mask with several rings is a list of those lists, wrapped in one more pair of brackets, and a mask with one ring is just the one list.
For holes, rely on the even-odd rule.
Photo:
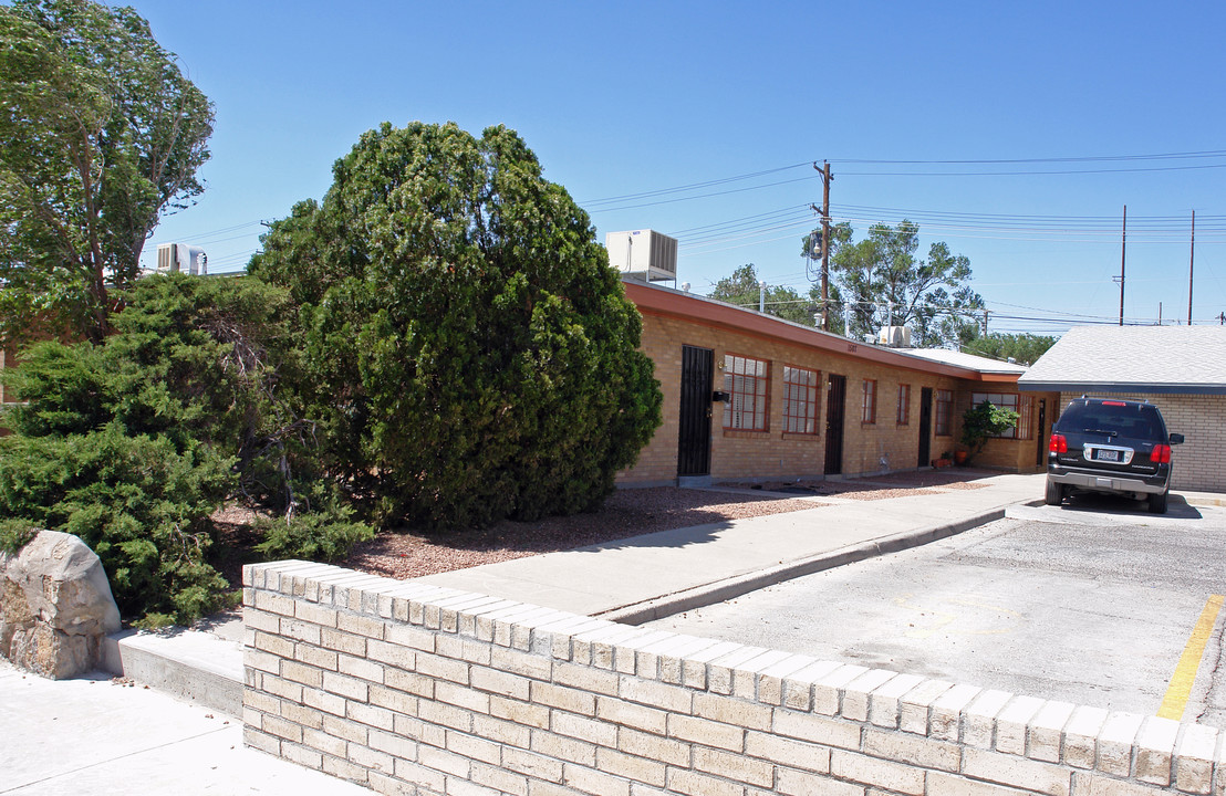
{"label": "light grey shingle roof above the black SUV", "polygon": [[1226,327],[1079,326],[1040,356],[1018,386],[1226,394]]}

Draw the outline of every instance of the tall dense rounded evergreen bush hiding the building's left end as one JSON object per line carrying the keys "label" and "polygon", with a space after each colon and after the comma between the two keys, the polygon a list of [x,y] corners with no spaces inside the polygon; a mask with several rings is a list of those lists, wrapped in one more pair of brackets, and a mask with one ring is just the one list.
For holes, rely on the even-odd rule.
{"label": "tall dense rounded evergreen bush hiding the building's left end", "polygon": [[287,287],[330,471],[384,523],[598,505],[660,424],[640,317],[512,131],[383,125],[249,273]]}

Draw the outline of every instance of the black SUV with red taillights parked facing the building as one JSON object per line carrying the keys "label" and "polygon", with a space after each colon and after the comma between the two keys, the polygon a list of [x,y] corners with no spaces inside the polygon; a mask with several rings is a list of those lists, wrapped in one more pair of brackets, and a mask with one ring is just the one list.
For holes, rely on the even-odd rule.
{"label": "black SUV with red taillights parked facing the building", "polygon": [[1059,506],[1076,490],[1108,492],[1145,500],[1163,514],[1171,446],[1182,442],[1149,402],[1076,398],[1052,426],[1046,502]]}

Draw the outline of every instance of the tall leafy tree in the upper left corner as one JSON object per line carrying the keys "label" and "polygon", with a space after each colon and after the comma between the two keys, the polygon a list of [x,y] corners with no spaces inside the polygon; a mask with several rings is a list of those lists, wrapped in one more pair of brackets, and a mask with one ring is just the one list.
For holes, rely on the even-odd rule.
{"label": "tall leafy tree in the upper left corner", "polygon": [[163,212],[204,186],[213,108],[132,9],[0,6],[0,338],[101,339]]}

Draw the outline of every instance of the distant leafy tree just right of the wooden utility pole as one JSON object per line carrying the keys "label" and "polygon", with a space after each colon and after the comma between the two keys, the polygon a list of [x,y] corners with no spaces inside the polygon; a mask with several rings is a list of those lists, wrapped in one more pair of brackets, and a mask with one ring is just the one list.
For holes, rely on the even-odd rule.
{"label": "distant leafy tree just right of the wooden utility pole", "polygon": [[956,343],[975,328],[983,299],[969,285],[971,262],[934,242],[917,258],[920,227],[874,224],[868,238],[852,242],[851,224],[830,230],[830,271],[850,302],[851,336],[875,334],[888,326],[910,326],[912,343]]}

